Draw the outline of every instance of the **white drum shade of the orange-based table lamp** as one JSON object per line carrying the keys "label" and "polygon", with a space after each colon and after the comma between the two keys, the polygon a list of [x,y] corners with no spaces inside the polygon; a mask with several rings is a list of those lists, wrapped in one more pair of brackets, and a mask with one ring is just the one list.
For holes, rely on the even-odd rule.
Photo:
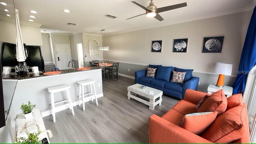
{"label": "white drum shade of the orange-based table lamp", "polygon": [[217,62],[214,68],[214,72],[217,74],[231,75],[232,67],[233,64]]}

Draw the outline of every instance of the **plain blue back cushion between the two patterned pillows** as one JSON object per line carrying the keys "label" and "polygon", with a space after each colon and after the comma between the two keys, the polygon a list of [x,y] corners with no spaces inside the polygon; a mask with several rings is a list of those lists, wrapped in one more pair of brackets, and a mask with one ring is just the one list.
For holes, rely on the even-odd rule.
{"label": "plain blue back cushion between the two patterned pillows", "polygon": [[174,70],[172,66],[158,66],[156,79],[170,81],[171,72]]}

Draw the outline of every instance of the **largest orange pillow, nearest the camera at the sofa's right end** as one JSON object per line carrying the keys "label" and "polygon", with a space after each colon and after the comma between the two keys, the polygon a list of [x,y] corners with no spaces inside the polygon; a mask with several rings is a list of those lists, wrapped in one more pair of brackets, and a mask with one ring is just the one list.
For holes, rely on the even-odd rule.
{"label": "largest orange pillow, nearest the camera at the sofa's right end", "polygon": [[245,106],[236,106],[218,116],[212,125],[201,135],[214,143],[230,143],[242,138],[247,119]]}

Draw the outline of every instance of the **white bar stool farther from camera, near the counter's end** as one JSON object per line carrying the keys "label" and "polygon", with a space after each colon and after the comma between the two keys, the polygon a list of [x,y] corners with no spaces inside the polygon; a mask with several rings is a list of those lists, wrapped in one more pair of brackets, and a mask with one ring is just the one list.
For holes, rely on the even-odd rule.
{"label": "white bar stool farther from camera, near the counter's end", "polygon": [[[83,110],[85,110],[85,106],[84,106],[85,98],[84,98],[84,96],[87,96],[89,94],[90,94],[90,96],[87,96],[86,98],[92,98],[92,101],[93,101],[93,97],[94,97],[95,100],[96,100],[96,105],[98,105],[98,100],[97,100],[97,97],[96,97],[96,90],[95,90],[94,82],[96,82],[96,81],[95,80],[83,80],[83,81],[77,82],[79,84],[79,96],[78,96],[79,106],[81,105],[80,100],[82,100],[83,101]],[[87,86],[87,85],[90,85],[91,91],[89,93],[84,94],[84,86]],[[93,87],[93,90],[92,90],[92,87]],[[82,89],[82,95],[81,95],[81,89]]]}

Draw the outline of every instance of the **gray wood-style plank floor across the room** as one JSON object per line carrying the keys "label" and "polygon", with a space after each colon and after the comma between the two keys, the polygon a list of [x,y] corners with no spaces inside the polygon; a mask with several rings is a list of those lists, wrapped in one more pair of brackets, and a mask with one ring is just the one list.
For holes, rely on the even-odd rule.
{"label": "gray wood-style plank floor across the room", "polygon": [[119,76],[103,81],[104,96],[98,98],[98,106],[86,102],[74,106],[75,115],[66,109],[52,116],[44,117],[47,130],[51,130],[51,143],[148,143],[148,120],[152,114],[162,116],[179,100],[162,96],[162,104],[150,110],[146,104],[134,99],[128,100],[127,87],[134,79]]}

